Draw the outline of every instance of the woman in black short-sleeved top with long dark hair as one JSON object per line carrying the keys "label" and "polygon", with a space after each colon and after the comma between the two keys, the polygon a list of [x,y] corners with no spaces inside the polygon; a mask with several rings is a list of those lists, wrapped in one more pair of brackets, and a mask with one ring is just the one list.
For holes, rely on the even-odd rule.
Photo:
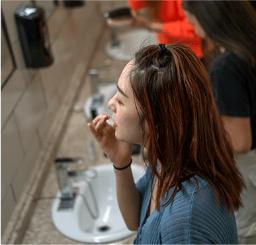
{"label": "woman in black short-sleeved top with long dark hair", "polygon": [[[209,71],[216,104],[245,179],[235,213],[242,244],[256,243],[256,12],[248,1],[184,1],[196,33],[224,52]],[[214,31],[213,31],[214,30]]]}

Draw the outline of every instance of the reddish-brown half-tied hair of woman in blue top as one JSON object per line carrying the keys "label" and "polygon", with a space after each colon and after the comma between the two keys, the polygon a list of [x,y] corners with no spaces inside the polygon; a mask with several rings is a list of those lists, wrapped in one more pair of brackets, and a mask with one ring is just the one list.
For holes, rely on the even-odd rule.
{"label": "reddish-brown half-tied hair of woman in blue top", "polygon": [[229,211],[237,210],[242,205],[244,184],[214,103],[208,73],[184,44],[165,48],[163,55],[158,46],[142,48],[130,71],[134,100],[143,113],[144,135],[146,123],[149,128],[148,139],[144,139],[149,141],[149,166],[159,178],[157,209],[165,193],[175,186],[165,200],[167,205],[182,189],[182,178],[194,173],[212,186],[218,201],[224,199]]}

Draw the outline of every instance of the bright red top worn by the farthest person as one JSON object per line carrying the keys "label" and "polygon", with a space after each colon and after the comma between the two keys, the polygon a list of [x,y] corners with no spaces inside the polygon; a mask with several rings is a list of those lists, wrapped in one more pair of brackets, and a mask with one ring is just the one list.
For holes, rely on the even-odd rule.
{"label": "bright red top worn by the farthest person", "polygon": [[[134,11],[146,7],[146,0],[128,0],[128,4]],[[160,44],[179,42],[187,44],[198,57],[202,57],[201,38],[194,33],[194,27],[189,24],[183,9],[182,0],[161,1],[158,18],[163,22],[163,32],[157,33]]]}

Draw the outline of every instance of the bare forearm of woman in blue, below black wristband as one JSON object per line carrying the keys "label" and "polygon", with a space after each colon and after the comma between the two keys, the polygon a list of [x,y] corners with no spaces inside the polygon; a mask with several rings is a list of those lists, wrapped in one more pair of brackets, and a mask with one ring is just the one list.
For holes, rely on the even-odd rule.
{"label": "bare forearm of woman in blue, below black wristband", "polygon": [[129,230],[140,226],[140,193],[135,186],[131,166],[124,170],[114,169],[116,174],[116,195],[122,217]]}

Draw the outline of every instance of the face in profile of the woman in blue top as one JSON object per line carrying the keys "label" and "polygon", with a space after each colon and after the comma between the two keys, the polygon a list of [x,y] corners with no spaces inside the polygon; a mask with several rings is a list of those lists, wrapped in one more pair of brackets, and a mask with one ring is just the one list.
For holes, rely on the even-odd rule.
{"label": "face in profile of the woman in blue top", "polygon": [[[124,67],[118,80],[118,92],[109,100],[108,108],[114,113],[112,120],[116,129],[116,139],[128,143],[142,143],[142,125],[138,110],[134,102],[134,95],[128,79],[128,73],[133,67],[133,61],[130,61]],[[142,114],[142,112],[139,112]],[[147,129],[146,129],[147,130]]]}

